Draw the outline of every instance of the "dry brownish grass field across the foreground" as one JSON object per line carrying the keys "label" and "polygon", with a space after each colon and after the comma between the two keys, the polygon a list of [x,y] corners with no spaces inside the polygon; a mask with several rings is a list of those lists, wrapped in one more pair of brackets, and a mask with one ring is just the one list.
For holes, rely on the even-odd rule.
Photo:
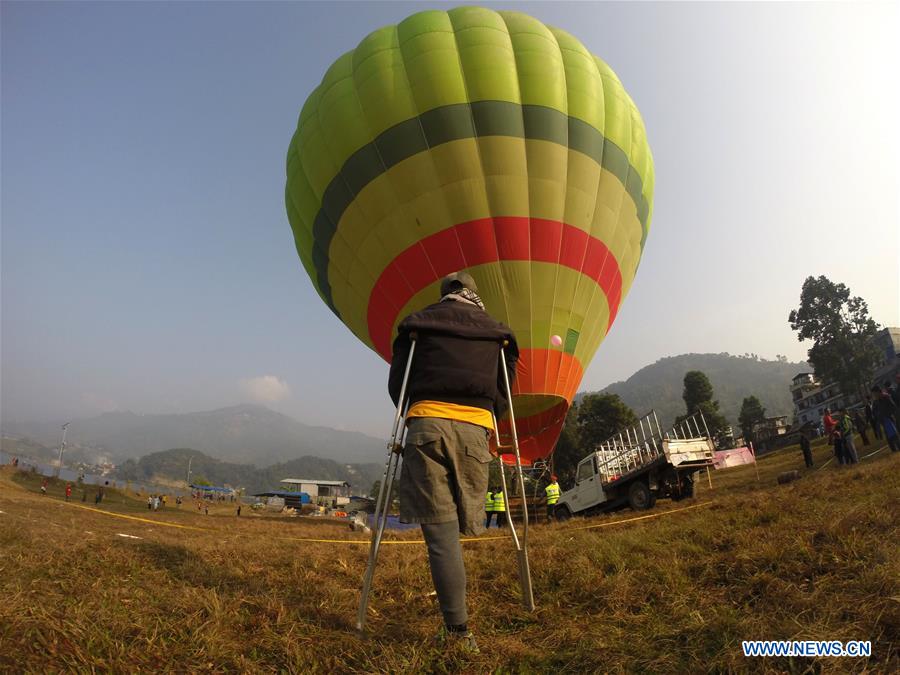
{"label": "dry brownish grass field across the foreground", "polygon": [[[510,541],[467,542],[478,655],[432,644],[422,544],[383,548],[360,640],[367,538],[345,525],[189,502],[150,513],[114,491],[95,509],[92,493],[67,504],[62,484],[44,496],[4,468],[0,671],[898,672],[900,456],[776,485],[802,464],[787,448],[759,480],[728,469],[693,500],[533,527],[533,613]],[[871,640],[873,654],[745,658],[747,639]]]}

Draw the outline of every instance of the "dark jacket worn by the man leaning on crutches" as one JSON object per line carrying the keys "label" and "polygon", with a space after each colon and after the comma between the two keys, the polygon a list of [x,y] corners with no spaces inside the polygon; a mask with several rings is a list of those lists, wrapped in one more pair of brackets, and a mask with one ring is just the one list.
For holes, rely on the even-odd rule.
{"label": "dark jacket worn by the man leaning on crutches", "polygon": [[410,404],[443,401],[493,410],[501,417],[508,407],[500,347],[504,340],[510,385],[516,376],[519,348],[510,328],[468,302],[445,300],[403,319],[397,329],[391,358],[388,392],[394,405],[410,349],[410,333],[417,334],[416,351],[407,384]]}

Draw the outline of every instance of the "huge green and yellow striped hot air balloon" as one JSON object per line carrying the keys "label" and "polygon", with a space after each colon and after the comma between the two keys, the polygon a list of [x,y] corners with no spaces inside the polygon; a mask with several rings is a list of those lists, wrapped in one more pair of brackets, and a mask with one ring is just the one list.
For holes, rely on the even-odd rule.
{"label": "huge green and yellow striped hot air balloon", "polygon": [[634,279],[653,159],[618,77],[576,38],[518,12],[424,11],[325,73],[288,150],[285,201],[322,300],[387,361],[440,279],[472,274],[519,342],[514,406],[533,462]]}

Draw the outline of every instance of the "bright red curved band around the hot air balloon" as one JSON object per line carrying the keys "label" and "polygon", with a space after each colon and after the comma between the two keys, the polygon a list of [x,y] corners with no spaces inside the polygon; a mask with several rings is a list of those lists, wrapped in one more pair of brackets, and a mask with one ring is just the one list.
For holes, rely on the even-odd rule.
{"label": "bright red curved band around the hot air balloon", "polygon": [[369,295],[367,311],[372,346],[390,361],[394,322],[416,293],[451,272],[501,260],[553,263],[586,275],[606,294],[607,330],[615,320],[622,298],[622,272],[600,239],[556,220],[481,218],[425,237],[381,272]]}

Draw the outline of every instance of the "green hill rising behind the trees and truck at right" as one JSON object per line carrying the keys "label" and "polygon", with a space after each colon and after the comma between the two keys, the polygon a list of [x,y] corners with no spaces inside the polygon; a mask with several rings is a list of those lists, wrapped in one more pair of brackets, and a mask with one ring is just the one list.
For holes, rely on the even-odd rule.
{"label": "green hill rising behind the trees and truck at right", "polygon": [[719,408],[737,426],[741,403],[747,396],[762,401],[766,415],[792,415],[790,384],[797,373],[810,371],[807,363],[766,361],[731,354],[681,354],[668,356],[641,368],[624,382],[603,392],[618,394],[638,415],[656,410],[660,424],[669,425],[684,413],[684,375],[702,370],[712,383]]}

